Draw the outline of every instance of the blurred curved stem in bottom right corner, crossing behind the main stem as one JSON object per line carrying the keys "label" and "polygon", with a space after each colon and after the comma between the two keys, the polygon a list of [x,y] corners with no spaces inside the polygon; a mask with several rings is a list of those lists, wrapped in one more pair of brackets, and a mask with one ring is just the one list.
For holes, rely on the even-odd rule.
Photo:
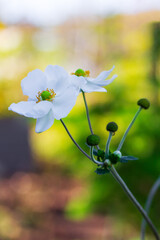
{"label": "blurred curved stem in bottom right corner, crossing behind the main stem", "polygon": [[[148,194],[148,198],[147,198],[146,205],[145,205],[145,210],[146,210],[147,214],[149,213],[150,206],[152,204],[153,198],[154,198],[158,188],[160,188],[160,177],[154,183],[154,185],[152,186],[152,188]],[[145,239],[145,232],[146,232],[146,221],[145,221],[145,219],[143,219],[142,225],[141,225],[141,240]]]}

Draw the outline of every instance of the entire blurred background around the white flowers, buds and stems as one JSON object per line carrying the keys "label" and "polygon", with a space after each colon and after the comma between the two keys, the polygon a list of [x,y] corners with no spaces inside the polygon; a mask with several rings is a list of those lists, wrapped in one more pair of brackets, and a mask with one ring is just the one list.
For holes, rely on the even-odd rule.
{"label": "entire blurred background around the white flowers, buds and stems", "polygon": [[[144,206],[160,175],[160,1],[0,0],[0,239],[140,239],[139,212],[112,176],[96,175],[60,121],[36,134],[33,119],[8,111],[11,103],[27,100],[21,80],[48,64],[90,70],[92,77],[115,65],[118,77],[108,92],[86,95],[101,148],[108,122],[119,126],[114,151],[137,100],[150,100],[122,149],[139,161],[117,166]],[[88,151],[81,95],[64,122]],[[150,216],[160,231],[159,199],[160,192]]]}

